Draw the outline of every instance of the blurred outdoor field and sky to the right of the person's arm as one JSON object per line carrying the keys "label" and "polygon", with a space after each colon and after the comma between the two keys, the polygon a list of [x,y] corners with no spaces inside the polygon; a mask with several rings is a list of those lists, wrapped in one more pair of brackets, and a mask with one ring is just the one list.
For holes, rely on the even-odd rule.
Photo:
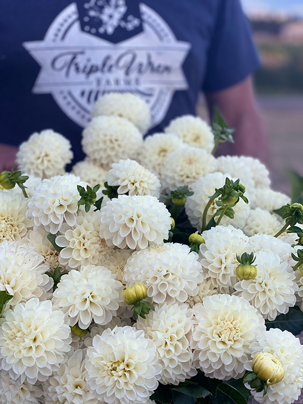
{"label": "blurred outdoor field and sky to the right of the person's arm", "polygon": [[[303,1],[242,0],[259,49],[257,100],[270,141],[273,188],[289,193],[289,169],[303,176]],[[201,98],[199,114],[206,118]]]}

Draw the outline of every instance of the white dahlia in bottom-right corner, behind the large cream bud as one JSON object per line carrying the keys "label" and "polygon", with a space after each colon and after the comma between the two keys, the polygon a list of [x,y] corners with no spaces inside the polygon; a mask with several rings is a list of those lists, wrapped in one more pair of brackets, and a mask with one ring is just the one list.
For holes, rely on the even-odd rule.
{"label": "white dahlia in bottom-right corner, behind the large cream bud", "polygon": [[[258,352],[268,352],[277,358],[284,369],[284,377],[278,383],[268,386],[267,393],[251,390],[255,400],[262,404],[291,404],[300,395],[303,387],[303,346],[289,331],[271,328],[250,345],[251,358]],[[251,371],[251,362],[245,369]],[[251,389],[246,384],[248,389]]]}

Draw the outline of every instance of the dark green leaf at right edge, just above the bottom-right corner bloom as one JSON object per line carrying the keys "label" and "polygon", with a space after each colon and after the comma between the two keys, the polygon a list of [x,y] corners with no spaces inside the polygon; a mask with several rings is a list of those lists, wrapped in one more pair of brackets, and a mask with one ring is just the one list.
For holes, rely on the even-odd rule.
{"label": "dark green leaf at right edge, just above the bottom-right corner bloom", "polygon": [[274,321],[266,321],[267,329],[280,328],[280,330],[290,331],[298,335],[303,330],[303,313],[297,308],[291,307],[287,314],[280,314]]}

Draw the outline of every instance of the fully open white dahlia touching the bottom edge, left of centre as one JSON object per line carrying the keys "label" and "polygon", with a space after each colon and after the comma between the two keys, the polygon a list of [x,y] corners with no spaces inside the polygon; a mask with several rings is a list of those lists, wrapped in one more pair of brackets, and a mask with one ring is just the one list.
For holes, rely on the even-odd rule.
{"label": "fully open white dahlia touching the bottom edge, left of centre", "polygon": [[85,367],[94,396],[108,404],[145,404],[162,371],[155,342],[126,326],[96,335],[92,344]]}

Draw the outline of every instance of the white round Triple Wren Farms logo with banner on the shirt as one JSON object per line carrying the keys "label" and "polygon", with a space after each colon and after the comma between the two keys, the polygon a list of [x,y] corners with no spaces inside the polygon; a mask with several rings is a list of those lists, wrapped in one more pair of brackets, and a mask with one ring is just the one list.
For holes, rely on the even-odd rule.
{"label": "white round Triple Wren Farms logo with banner on the shirt", "polygon": [[79,10],[72,3],[43,40],[23,46],[41,66],[32,92],[51,93],[81,127],[97,98],[118,91],[146,100],[152,128],[166,116],[174,92],[188,88],[182,64],[190,43],[178,41],[163,18],[142,3],[138,12],[125,0],[87,0]]}

